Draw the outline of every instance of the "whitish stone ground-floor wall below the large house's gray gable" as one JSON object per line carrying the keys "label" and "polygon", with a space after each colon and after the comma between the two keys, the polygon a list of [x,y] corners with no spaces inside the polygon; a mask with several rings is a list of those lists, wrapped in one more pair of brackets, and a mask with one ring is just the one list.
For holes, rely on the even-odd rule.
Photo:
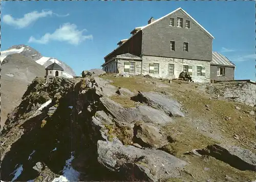
{"label": "whitish stone ground-floor wall below the large house's gray gable", "polygon": [[[192,66],[192,79],[194,82],[210,82],[210,61],[177,59],[155,56],[142,56],[142,75],[150,75],[156,78],[178,78],[183,71],[183,65]],[[159,74],[150,73],[150,63],[159,63]],[[174,74],[169,75],[169,64],[174,64]],[[197,66],[205,67],[205,76],[197,76]]]}

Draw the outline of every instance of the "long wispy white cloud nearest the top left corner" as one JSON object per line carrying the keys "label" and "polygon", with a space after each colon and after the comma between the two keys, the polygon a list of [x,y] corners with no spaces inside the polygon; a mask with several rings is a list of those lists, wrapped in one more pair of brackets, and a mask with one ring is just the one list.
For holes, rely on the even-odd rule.
{"label": "long wispy white cloud nearest the top left corner", "polygon": [[39,18],[56,15],[58,17],[65,17],[67,15],[59,15],[53,13],[51,10],[42,10],[41,12],[32,11],[30,13],[25,14],[22,18],[13,18],[12,15],[6,14],[3,16],[3,22],[7,25],[14,26],[16,28],[22,29],[28,27],[33,22],[37,21]]}

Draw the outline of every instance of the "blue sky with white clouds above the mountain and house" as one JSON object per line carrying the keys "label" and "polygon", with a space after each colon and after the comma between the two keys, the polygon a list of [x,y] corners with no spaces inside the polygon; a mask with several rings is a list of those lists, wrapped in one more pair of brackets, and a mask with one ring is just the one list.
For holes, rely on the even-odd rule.
{"label": "blue sky with white clouds above the mountain and house", "polygon": [[27,44],[80,75],[99,68],[117,42],[151,16],[179,7],[215,37],[213,51],[236,64],[235,79],[255,80],[253,1],[8,1],[2,4],[1,50]]}

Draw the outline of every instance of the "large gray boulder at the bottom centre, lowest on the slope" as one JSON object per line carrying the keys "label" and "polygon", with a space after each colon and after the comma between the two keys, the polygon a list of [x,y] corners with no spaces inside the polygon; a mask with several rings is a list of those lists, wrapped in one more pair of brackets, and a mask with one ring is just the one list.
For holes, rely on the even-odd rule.
{"label": "large gray boulder at the bottom centre, lowest on the slope", "polygon": [[[98,141],[98,162],[111,171],[120,171],[133,180],[158,181],[181,177],[187,163],[162,150],[140,149],[113,142]],[[131,179],[130,179],[131,180]]]}

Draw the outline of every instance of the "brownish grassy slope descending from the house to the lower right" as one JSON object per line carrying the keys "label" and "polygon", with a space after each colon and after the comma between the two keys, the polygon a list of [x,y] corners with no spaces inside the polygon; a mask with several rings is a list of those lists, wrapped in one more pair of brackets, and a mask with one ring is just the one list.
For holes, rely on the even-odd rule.
{"label": "brownish grassy slope descending from the house to the lower right", "polygon": [[[172,81],[170,84],[167,81],[154,78],[124,78],[114,75],[102,77],[113,80],[113,85],[128,88],[132,92],[140,90],[142,92],[161,93],[164,91],[171,93],[182,103],[187,111],[187,116],[165,126],[163,131],[175,141],[166,146],[165,150],[191,163],[186,170],[195,178],[185,177],[185,180],[224,180],[225,175],[239,181],[255,178],[255,174],[251,171],[237,170],[212,157],[203,160],[203,157],[183,155],[191,149],[201,149],[214,143],[237,145],[256,152],[253,148],[255,119],[254,116],[243,112],[253,110],[252,107],[241,103],[210,99],[210,95],[197,89],[198,84],[196,83]],[[169,87],[157,87],[152,82],[165,82]],[[130,98],[113,96],[112,99],[124,107],[133,107],[136,104]],[[241,110],[237,110],[236,106],[239,106]],[[207,108],[209,109],[207,110]],[[226,117],[231,119],[225,120]],[[239,140],[233,138],[234,134],[239,136]],[[204,168],[210,170],[204,170]]]}

